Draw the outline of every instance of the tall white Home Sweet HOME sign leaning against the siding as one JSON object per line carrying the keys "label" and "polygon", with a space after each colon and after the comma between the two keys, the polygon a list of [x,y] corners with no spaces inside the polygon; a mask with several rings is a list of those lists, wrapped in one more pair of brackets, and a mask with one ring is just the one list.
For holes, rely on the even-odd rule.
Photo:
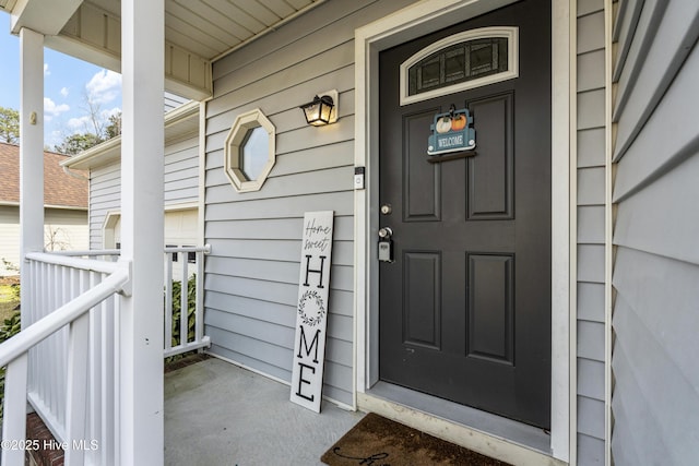
{"label": "tall white Home Sweet HOME sign leaning against the siding", "polygon": [[325,358],[333,211],[304,215],[292,402],[320,413]]}

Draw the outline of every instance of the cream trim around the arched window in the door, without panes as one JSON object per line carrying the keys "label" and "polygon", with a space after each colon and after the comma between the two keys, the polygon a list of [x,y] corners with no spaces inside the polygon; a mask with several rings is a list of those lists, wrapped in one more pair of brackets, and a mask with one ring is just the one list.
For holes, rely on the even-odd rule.
{"label": "cream trim around the arched window in the door, without panes", "polygon": [[[408,70],[415,63],[429,57],[430,55],[451,47],[457,44],[465,43],[469,40],[485,39],[485,38],[500,38],[507,39],[507,71],[500,73],[490,74],[487,76],[478,77],[471,81],[464,81],[461,83],[452,84],[450,86],[439,87],[425,93],[418,93],[415,95],[408,95]],[[508,26],[491,26],[481,27],[478,29],[464,31],[463,33],[454,34],[449,37],[445,37],[434,44],[428,45],[411,58],[405,60],[401,64],[401,105],[414,104],[416,101],[428,100],[430,98],[440,97],[447,94],[454,94],[458,92],[472,89],[475,87],[485,86],[488,84],[499,83],[501,81],[512,80],[520,75],[519,65],[519,27]]]}

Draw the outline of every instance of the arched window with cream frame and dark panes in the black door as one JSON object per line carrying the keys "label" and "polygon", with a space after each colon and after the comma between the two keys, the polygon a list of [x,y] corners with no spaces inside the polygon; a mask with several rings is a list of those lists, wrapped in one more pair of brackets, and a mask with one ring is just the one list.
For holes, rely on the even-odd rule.
{"label": "arched window with cream frame and dark panes in the black door", "polygon": [[431,44],[401,64],[401,105],[517,77],[518,28],[483,27]]}

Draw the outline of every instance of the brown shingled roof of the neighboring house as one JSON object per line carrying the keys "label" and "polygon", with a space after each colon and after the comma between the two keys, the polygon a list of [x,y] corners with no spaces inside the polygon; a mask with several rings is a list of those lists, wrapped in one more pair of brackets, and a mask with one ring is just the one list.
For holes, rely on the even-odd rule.
{"label": "brown shingled roof of the neighboring house", "polygon": [[[87,174],[85,179],[68,175],[60,166],[70,158],[55,152],[44,152],[44,205],[87,208]],[[20,204],[20,146],[0,142],[0,204]]]}

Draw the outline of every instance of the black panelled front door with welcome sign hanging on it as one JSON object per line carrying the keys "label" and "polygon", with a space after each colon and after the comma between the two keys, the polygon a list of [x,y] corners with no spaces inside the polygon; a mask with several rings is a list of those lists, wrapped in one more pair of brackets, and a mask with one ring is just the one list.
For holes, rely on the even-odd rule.
{"label": "black panelled front door with welcome sign hanging on it", "polygon": [[[380,379],[543,428],[550,422],[549,3],[518,2],[379,58],[377,208],[393,240],[393,262],[379,266]],[[406,85],[417,94],[433,86],[430,98],[401,105],[401,63],[488,26],[518,28],[518,77],[454,93],[449,76],[459,67],[495,73],[487,68],[497,68],[501,46],[484,39],[447,64],[463,47],[442,56],[433,47],[436,58]],[[475,155],[427,154],[430,124],[450,108],[470,110]]]}

